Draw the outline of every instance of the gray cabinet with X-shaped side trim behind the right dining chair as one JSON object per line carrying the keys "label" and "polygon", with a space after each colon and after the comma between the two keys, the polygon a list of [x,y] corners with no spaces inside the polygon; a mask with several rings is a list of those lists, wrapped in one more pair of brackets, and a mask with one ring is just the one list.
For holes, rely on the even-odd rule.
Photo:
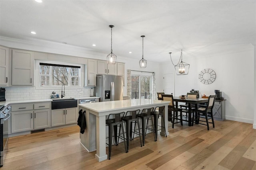
{"label": "gray cabinet with X-shaped side trim behind the right dining chair", "polygon": [[212,109],[214,120],[225,120],[225,100],[215,101]]}

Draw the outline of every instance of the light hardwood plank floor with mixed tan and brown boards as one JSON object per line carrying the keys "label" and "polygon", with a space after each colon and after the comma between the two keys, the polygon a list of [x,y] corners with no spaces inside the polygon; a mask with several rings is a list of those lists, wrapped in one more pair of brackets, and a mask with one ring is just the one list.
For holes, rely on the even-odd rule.
{"label": "light hardwood plank floor with mixed tan and brown boards", "polygon": [[169,122],[167,138],[158,131],[154,142],[148,134],[144,147],[136,138],[128,153],[124,145],[114,145],[111,160],[103,162],[80,145],[78,126],[11,137],[1,170],[256,170],[252,124],[228,120],[215,124],[207,131],[204,125],[186,123],[172,129]]}

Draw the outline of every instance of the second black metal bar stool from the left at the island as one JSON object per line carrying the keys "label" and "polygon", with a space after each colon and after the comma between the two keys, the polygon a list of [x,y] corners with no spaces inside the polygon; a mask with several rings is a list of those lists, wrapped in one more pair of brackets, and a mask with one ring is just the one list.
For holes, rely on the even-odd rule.
{"label": "second black metal bar stool from the left at the island", "polygon": [[[138,125],[138,129],[140,129],[140,122],[138,121],[139,118],[137,115],[140,113],[140,109],[127,111],[123,117],[121,118],[122,121],[126,123],[126,142],[127,142],[127,152],[129,152],[129,140],[133,140],[132,138],[132,123],[135,123],[134,128],[136,127],[136,123]],[[120,133],[120,131],[119,131]],[[140,136],[140,131],[139,131]],[[140,137],[140,146],[142,147],[141,137]]]}

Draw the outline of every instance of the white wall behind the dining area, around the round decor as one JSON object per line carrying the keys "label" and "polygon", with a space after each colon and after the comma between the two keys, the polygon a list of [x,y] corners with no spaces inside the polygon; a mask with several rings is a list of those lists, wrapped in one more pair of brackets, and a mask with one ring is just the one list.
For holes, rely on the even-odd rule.
{"label": "white wall behind the dining area, around the round decor", "polygon": [[[186,94],[192,88],[206,96],[214,95],[214,90],[220,90],[222,97],[226,99],[226,119],[253,123],[254,48],[252,45],[240,49],[240,52],[196,57],[196,59],[188,59],[183,55],[183,61],[190,64],[190,71],[188,75],[175,76],[176,96]],[[174,72],[171,62],[163,63],[161,68],[162,74]],[[216,80],[212,84],[199,82],[198,74],[204,68],[212,68],[216,72]]]}

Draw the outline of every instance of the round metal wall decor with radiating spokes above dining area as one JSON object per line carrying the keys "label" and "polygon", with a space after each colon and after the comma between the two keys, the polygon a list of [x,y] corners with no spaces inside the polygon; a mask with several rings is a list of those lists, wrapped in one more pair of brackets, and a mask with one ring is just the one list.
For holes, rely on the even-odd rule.
{"label": "round metal wall decor with radiating spokes above dining area", "polygon": [[212,84],[216,78],[216,73],[210,68],[205,68],[199,72],[198,78],[202,84]]}

